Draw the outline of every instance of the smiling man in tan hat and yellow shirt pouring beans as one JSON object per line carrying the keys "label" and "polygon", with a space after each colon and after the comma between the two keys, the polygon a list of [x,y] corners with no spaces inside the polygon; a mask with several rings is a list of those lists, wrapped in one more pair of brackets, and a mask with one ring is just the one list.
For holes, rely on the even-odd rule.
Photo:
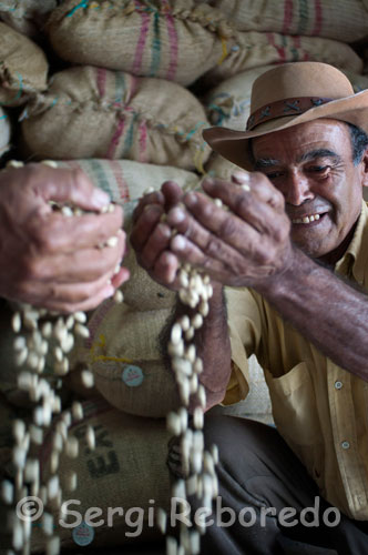
{"label": "smiling man in tan hat and yellow shirt pouring beans", "polygon": [[[208,526],[203,553],[368,553],[367,132],[368,91],[354,94],[326,64],[277,67],[254,83],[245,132],[204,133],[225,158],[262,172],[204,182],[231,212],[200,193],[181,199],[173,183],[136,211],[132,242],[153,278],[177,289],[186,261],[213,280],[197,337],[207,407],[247,394],[252,353],[273,403],[277,431],[207,418],[222,505],[252,508],[255,521]],[[226,291],[229,333],[223,285],[237,287]],[[319,526],[300,517],[316,498]],[[330,526],[321,516],[334,507],[341,521]],[[288,508],[297,509],[292,525]]]}

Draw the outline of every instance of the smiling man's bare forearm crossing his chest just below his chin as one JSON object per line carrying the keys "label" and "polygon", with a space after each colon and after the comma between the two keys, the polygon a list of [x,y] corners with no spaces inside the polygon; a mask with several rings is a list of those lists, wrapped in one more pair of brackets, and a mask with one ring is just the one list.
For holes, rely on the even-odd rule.
{"label": "smiling man's bare forearm crossing his chest just below his chin", "polygon": [[368,381],[368,296],[301,251],[294,254],[285,273],[255,289],[326,356]]}

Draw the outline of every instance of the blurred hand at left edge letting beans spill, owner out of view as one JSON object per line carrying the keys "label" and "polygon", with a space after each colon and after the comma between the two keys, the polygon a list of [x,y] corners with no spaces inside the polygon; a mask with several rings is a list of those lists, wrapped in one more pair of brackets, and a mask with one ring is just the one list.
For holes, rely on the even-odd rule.
{"label": "blurred hand at left edge letting beans spill, owner out of view", "polygon": [[[94,212],[68,218],[49,201]],[[88,311],[129,278],[123,213],[80,171],[42,164],[0,173],[0,295],[60,312]],[[115,246],[99,245],[117,236]],[[110,282],[111,280],[111,282]]]}

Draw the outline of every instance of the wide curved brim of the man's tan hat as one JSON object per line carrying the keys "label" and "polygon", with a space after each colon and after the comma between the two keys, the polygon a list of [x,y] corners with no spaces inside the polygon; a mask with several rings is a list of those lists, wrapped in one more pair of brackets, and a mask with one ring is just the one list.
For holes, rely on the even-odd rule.
{"label": "wide curved brim of the man's tan hat", "polygon": [[253,160],[248,148],[251,139],[320,118],[352,123],[368,134],[368,89],[351,97],[311,108],[299,115],[285,115],[269,120],[257,125],[253,131],[234,131],[222,127],[208,128],[203,131],[203,138],[215,152],[225,159],[241,168],[252,170]]}

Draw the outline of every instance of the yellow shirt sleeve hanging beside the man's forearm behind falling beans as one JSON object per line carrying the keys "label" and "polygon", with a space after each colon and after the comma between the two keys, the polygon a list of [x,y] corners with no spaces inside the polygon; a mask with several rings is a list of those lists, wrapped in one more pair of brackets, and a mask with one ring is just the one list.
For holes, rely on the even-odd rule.
{"label": "yellow shirt sleeve hanging beside the man's forearm behind falling beans", "polygon": [[227,287],[225,295],[232,345],[232,374],[222,404],[231,405],[248,394],[248,357],[258,351],[262,317],[259,304],[252,290]]}

